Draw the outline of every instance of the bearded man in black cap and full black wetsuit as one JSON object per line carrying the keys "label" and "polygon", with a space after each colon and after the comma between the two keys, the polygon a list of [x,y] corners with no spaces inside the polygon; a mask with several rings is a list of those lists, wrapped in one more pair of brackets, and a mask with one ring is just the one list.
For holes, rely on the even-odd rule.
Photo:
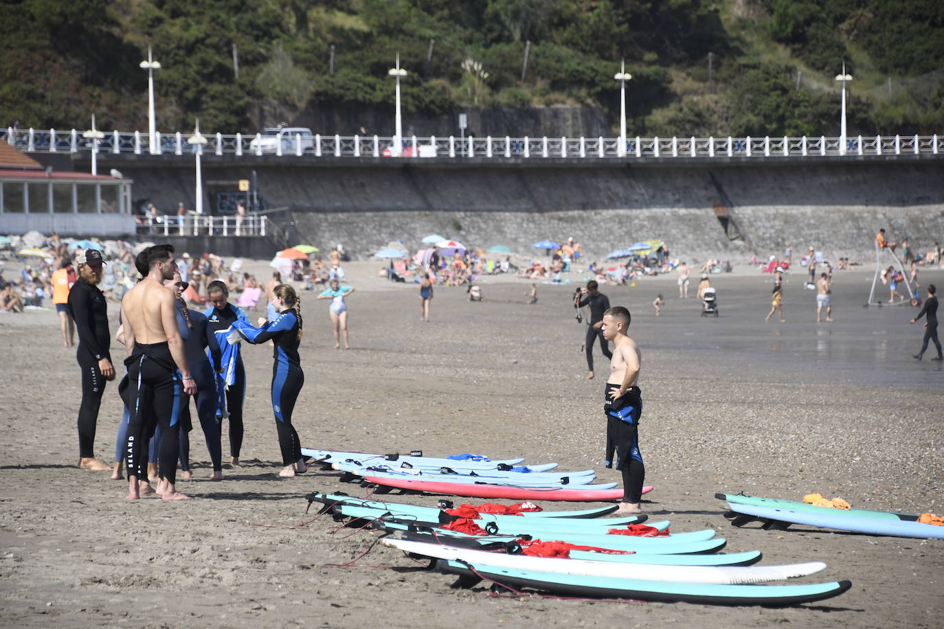
{"label": "bearded man in black cap and full black wetsuit", "polygon": [[76,322],[78,350],[76,360],[82,370],[82,402],[78,406],[78,467],[108,472],[109,466],[95,458],[95,425],[102,404],[105,383],[114,380],[109,345],[108,303],[98,290],[102,281],[102,254],[85,252],[85,263],[78,267],[79,278],[69,291],[69,314]]}

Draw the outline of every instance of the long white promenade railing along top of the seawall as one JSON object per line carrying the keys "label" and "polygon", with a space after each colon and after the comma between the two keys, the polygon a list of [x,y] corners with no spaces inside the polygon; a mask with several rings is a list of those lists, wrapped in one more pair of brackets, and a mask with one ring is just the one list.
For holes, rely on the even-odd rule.
{"label": "long white promenade railing along top of the seawall", "polygon": [[[189,133],[156,134],[153,151],[147,133],[110,131],[98,140],[83,137],[82,131],[56,129],[0,129],[0,141],[27,153],[92,153],[133,155],[262,156],[285,159],[314,157],[517,157],[529,159],[583,157],[660,158],[677,157],[858,157],[878,155],[944,154],[944,136],[855,136],[846,138],[417,138],[402,139],[400,151],[395,138],[378,136],[302,136],[281,138],[260,134],[202,136],[206,143],[191,143]],[[95,143],[93,143],[95,142]],[[621,148],[623,150],[621,150]]]}

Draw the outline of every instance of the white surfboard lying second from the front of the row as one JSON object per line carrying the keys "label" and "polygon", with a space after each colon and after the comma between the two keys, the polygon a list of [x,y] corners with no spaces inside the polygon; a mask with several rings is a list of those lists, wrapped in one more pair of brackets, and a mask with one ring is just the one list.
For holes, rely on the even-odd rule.
{"label": "white surfboard lying second from the front of the row", "polygon": [[490,553],[397,538],[384,538],[380,541],[404,553],[436,559],[465,561],[472,565],[487,564],[498,568],[547,571],[559,574],[582,574],[604,578],[641,579],[644,581],[735,585],[785,581],[786,579],[809,576],[826,569],[826,564],[821,561],[783,566],[666,566],[665,564],[628,564],[594,561],[592,559],[509,555],[507,553]]}

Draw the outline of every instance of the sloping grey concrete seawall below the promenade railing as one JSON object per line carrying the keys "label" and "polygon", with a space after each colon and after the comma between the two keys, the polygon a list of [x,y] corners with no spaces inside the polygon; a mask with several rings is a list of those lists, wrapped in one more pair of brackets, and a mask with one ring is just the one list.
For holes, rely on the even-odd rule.
{"label": "sloping grey concrete seawall below the promenade railing", "polygon": [[[120,158],[115,158],[120,157]],[[133,196],[194,206],[192,157],[110,156]],[[531,253],[543,239],[582,241],[602,257],[636,240],[673,255],[745,260],[791,245],[866,257],[884,226],[918,251],[944,241],[944,159],[809,157],[686,160],[207,156],[204,185],[235,190],[255,170],[274,206],[292,207],[302,240],[369,255],[430,233]],[[76,164],[81,168],[81,162]],[[102,168],[100,165],[99,168]],[[210,204],[211,199],[205,199]]]}

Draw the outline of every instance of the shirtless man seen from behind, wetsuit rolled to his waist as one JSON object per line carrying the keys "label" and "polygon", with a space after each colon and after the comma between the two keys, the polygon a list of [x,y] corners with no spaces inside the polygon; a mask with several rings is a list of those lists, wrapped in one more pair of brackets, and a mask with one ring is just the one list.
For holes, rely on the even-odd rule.
{"label": "shirtless man seen from behind, wetsuit rolled to his waist", "polygon": [[[143,252],[147,276],[122,300],[125,322],[125,361],[128,379],[137,384],[131,394],[130,419],[127,426],[125,461],[127,466],[128,500],[140,497],[138,479],[144,477],[147,435],[153,426],[148,418],[160,423],[160,486],[164,500],[185,500],[177,491],[178,412],[182,393],[194,395],[196,384],[187,366],[183,339],[177,329],[177,300],[174,291],[163,286],[177,271],[174,248],[169,244],[148,247]],[[144,408],[153,414],[144,413]]]}

